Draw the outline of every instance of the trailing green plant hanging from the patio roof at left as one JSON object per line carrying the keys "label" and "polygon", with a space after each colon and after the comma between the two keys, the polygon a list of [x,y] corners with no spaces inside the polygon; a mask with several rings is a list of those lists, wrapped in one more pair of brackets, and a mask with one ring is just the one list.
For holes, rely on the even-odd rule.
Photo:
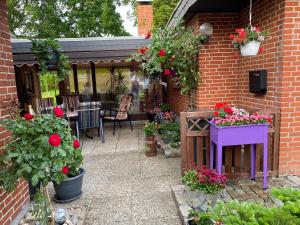
{"label": "trailing green plant hanging from the patio roof at left", "polygon": [[49,66],[52,65],[57,67],[59,80],[64,80],[68,76],[70,69],[69,58],[62,53],[61,46],[57,40],[32,40],[31,50],[39,63],[40,75],[47,73]]}

